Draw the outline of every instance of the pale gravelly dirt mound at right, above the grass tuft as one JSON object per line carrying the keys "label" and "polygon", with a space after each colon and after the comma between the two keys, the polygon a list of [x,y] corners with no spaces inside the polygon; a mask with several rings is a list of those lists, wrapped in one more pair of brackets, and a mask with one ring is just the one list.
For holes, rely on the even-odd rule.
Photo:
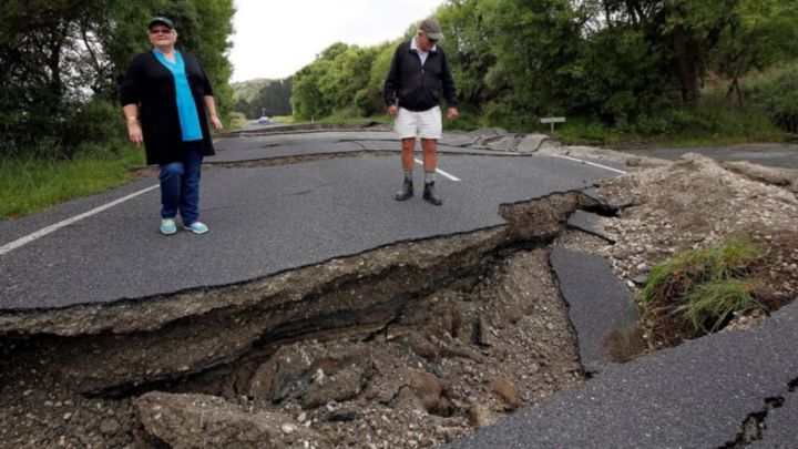
{"label": "pale gravelly dirt mound at right, above the grass tuft", "polygon": [[[798,297],[798,196],[795,177],[750,164],[719,164],[697,154],[662,167],[607,181],[598,193],[621,208],[604,220],[617,241],[598,251],[636,289],[651,267],[684,249],[730,237],[750,239],[764,255],[751,273],[770,312]],[[746,329],[765,315],[736,314],[727,329]],[[673,340],[649,336],[653,348]]]}

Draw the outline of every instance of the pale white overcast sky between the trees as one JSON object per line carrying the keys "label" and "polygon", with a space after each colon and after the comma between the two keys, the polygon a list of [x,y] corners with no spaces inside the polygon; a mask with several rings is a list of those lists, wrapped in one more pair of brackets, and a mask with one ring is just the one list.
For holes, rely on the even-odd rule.
{"label": "pale white overcast sky between the trees", "polygon": [[286,78],[334,42],[400,37],[444,0],[235,0],[232,81]]}

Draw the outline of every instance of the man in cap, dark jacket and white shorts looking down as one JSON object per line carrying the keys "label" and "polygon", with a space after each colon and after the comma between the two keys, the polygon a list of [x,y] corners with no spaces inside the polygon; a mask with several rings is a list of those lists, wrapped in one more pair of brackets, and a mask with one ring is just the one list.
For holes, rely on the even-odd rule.
{"label": "man in cap, dark jacket and white shorts looking down", "polygon": [[388,114],[396,115],[393,130],[402,146],[405,182],[396,194],[397,201],[413,196],[412,170],[416,137],[421,137],[423,150],[423,198],[437,206],[443,204],[434,190],[438,139],[441,136],[441,112],[438,103],[441,92],[449,105],[447,116],[458,116],[457,91],[446,53],[437,44],[443,32],[437,20],[424,19],[410,42],[401,43],[391,61],[385,83]]}

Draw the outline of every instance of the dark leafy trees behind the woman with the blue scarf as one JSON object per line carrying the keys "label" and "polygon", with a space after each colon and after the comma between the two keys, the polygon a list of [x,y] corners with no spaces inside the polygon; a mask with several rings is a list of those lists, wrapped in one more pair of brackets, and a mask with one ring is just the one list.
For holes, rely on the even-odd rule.
{"label": "dark leafy trees behind the woman with the blue scarf", "polygon": [[0,8],[0,156],[70,157],[124,136],[119,81],[151,48],[146,23],[171,18],[195,53],[219,110],[232,106],[225,52],[232,0],[4,0]]}

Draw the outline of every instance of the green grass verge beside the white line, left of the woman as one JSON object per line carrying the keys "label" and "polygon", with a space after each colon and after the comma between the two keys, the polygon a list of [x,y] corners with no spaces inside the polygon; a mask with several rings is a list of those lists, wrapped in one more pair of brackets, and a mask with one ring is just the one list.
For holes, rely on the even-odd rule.
{"label": "green grass verge beside the white line, left of the woman", "polygon": [[80,196],[132,181],[131,167],[144,165],[144,150],[129,144],[88,149],[69,161],[0,159],[0,220],[44,211]]}

